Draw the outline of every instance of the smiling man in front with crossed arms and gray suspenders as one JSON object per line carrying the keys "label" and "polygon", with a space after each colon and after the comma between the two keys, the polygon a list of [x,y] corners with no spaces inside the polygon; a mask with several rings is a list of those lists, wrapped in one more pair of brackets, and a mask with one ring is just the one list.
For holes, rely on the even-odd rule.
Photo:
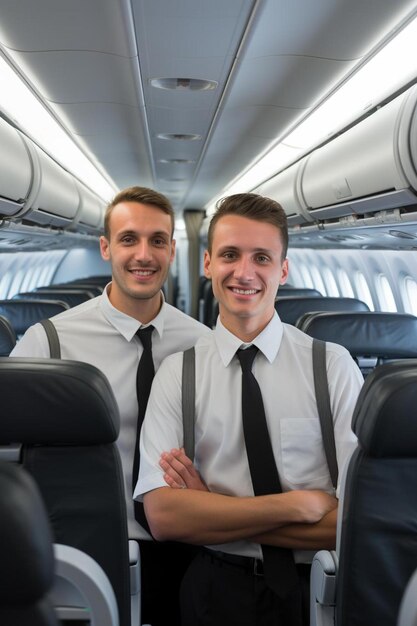
{"label": "smiling man in front with crossed arms and gray suspenders", "polygon": [[[212,218],[204,271],[219,318],[195,349],[195,467],[181,450],[182,354],[168,357],[154,379],[135,497],[157,539],[203,546],[183,581],[183,626],[300,626],[312,551],[335,544],[337,499],[321,441],[312,339],[282,324],[274,307],[288,276],[287,245],[285,213],[269,198],[230,196]],[[251,450],[248,460],[242,419],[240,362],[248,348],[263,400],[262,410],[252,409],[254,432],[265,413],[272,446],[268,486],[260,489],[252,467],[259,471],[267,459],[254,460]],[[327,371],[341,469],[355,445],[350,421],[363,379],[336,344],[327,345]],[[282,493],[269,486],[269,473],[278,473]],[[271,551],[285,553],[282,588],[265,561]]]}

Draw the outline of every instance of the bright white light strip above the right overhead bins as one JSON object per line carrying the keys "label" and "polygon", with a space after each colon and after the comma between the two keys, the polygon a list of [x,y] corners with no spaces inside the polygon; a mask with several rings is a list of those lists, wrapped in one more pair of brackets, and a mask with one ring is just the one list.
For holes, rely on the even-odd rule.
{"label": "bright white light strip above the right overhead bins", "polygon": [[258,187],[280,170],[294,163],[335,133],[346,128],[367,110],[416,78],[417,18],[405,26],[377,54],[363,64],[351,78],[318,106],[283,139],[258,155],[242,176],[232,180],[207,203],[208,215],[216,202],[235,193]]}

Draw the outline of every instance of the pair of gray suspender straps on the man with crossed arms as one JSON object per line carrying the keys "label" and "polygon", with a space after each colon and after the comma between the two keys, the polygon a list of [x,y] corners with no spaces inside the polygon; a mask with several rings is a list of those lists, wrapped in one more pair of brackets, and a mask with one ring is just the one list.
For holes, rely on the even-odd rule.
{"label": "pair of gray suspender straps on the man with crossed arms", "polygon": [[[336,489],[338,468],[336,445],[334,440],[333,417],[330,408],[329,386],[326,369],[326,344],[313,340],[313,372],[317,410],[324,451],[333,487]],[[184,352],[182,363],[182,415],[184,428],[184,449],[186,455],[194,460],[194,419],[195,419],[195,350]]]}

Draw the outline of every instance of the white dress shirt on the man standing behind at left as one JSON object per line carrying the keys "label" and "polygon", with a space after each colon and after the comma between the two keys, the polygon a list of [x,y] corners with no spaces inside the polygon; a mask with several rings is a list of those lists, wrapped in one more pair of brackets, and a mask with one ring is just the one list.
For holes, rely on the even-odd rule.
{"label": "white dress shirt on the man standing behind at left", "polygon": [[[117,440],[125,479],[129,537],[149,539],[148,533],[134,519],[132,468],[136,442],[138,402],[136,372],[143,346],[135,336],[141,326],[133,317],[116,309],[108,299],[107,287],[97,298],[52,318],[59,335],[61,357],[90,363],[107,376],[120,411],[120,434]],[[152,354],[155,371],[162,360],[195,344],[211,331],[165,301],[152,320]],[[29,328],[12,351],[11,357],[50,356],[43,326]]]}

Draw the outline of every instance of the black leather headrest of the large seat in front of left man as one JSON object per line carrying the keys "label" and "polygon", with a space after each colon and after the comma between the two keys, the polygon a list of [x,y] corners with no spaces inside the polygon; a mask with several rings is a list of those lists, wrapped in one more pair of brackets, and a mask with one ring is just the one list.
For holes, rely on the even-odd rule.
{"label": "black leather headrest of the large seat in front of left man", "polygon": [[106,376],[88,363],[0,358],[1,443],[111,443],[119,434]]}

